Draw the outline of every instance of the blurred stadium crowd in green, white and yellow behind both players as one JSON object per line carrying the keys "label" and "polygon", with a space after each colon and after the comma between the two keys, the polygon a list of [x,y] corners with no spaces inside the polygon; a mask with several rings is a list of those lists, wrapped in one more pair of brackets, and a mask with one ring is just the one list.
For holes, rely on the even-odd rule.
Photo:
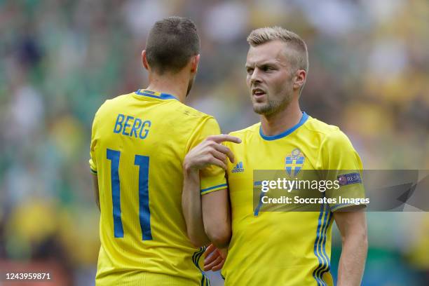
{"label": "blurred stadium crowd in green, white and yellow behind both players", "polygon": [[[168,15],[198,26],[188,104],[223,132],[259,120],[245,39],[280,25],[308,45],[304,111],[338,125],[366,169],[429,169],[427,0],[1,0],[0,269],[40,267],[56,285],[94,284],[91,123],[104,100],[147,86],[141,51]],[[428,213],[372,212],[368,227],[362,285],[429,285]],[[340,250],[335,231],[334,275]]]}

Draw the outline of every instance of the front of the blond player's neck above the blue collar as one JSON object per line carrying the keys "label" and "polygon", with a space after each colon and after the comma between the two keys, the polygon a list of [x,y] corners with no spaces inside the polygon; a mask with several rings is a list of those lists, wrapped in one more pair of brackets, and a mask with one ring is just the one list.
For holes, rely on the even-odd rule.
{"label": "front of the blond player's neck above the blue collar", "polygon": [[261,115],[261,128],[266,136],[278,135],[297,125],[302,117],[298,100],[292,100],[287,107],[270,115]]}

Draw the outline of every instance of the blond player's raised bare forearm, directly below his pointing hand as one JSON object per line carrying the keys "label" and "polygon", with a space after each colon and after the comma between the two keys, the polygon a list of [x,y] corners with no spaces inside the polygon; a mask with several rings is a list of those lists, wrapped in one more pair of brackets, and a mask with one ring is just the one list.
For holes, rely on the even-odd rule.
{"label": "blond player's raised bare forearm, directly below his pointing hand", "polygon": [[186,232],[191,243],[196,247],[210,243],[204,231],[201,212],[199,170],[184,168],[182,208],[186,222]]}

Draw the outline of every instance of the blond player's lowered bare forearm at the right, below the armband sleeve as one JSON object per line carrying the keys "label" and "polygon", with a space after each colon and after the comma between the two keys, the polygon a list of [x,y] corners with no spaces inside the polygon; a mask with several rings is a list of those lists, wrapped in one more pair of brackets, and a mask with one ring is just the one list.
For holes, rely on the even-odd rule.
{"label": "blond player's lowered bare forearm at the right, below the armband sleeve", "polygon": [[362,280],[367,259],[366,230],[343,239],[343,249],[338,268],[338,286],[358,286]]}

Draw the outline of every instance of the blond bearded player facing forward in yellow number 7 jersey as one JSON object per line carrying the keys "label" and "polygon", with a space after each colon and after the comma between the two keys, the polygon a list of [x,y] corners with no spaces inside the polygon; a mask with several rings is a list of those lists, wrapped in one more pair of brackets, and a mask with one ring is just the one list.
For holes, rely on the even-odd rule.
{"label": "blond bearded player facing forward in yellow number 7 jersey", "polygon": [[[247,86],[261,122],[231,132],[242,141],[225,144],[236,163],[215,163],[227,170],[231,199],[232,238],[222,268],[225,285],[334,285],[329,271],[333,221],[342,238],[336,285],[360,285],[367,255],[362,205],[320,203],[318,211],[313,212],[261,212],[254,207],[254,170],[284,170],[292,176],[301,170],[333,170],[333,178],[326,176],[337,179],[339,189],[330,189],[321,196],[365,198],[365,191],[360,178],[362,163],[346,135],[299,107],[308,71],[304,41],[281,27],[256,29],[247,41]],[[207,156],[207,148],[207,144],[200,144],[192,149],[186,165],[205,166],[203,162],[212,159]],[[184,192],[198,192],[196,184],[185,185],[189,189]],[[216,192],[203,192],[201,199],[191,197],[203,202],[207,233],[223,224],[214,211],[220,207],[219,200],[210,203],[205,199],[210,191]],[[220,259],[219,252],[209,257],[207,268]]]}

